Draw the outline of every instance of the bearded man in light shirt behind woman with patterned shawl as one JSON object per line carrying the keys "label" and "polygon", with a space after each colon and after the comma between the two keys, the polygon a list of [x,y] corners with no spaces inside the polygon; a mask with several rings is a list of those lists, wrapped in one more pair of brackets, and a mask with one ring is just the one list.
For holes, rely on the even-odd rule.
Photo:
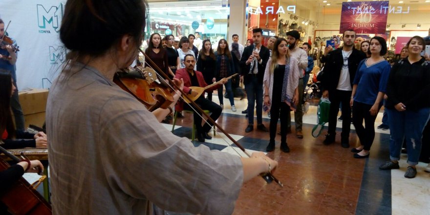
{"label": "bearded man in light shirt behind woman with patterned shawl", "polygon": [[[295,58],[299,62],[299,102],[297,103],[296,111],[294,112],[294,122],[296,124],[296,136],[297,138],[303,138],[303,132],[301,127],[303,124],[303,110],[301,105],[303,103],[303,77],[304,71],[307,68],[307,54],[306,52],[299,48],[297,45],[299,43],[300,33],[299,31],[292,30],[287,32],[287,42],[289,46],[289,54],[292,58]],[[288,131],[291,132],[291,116],[288,117]],[[287,132],[288,132],[287,131]]]}

